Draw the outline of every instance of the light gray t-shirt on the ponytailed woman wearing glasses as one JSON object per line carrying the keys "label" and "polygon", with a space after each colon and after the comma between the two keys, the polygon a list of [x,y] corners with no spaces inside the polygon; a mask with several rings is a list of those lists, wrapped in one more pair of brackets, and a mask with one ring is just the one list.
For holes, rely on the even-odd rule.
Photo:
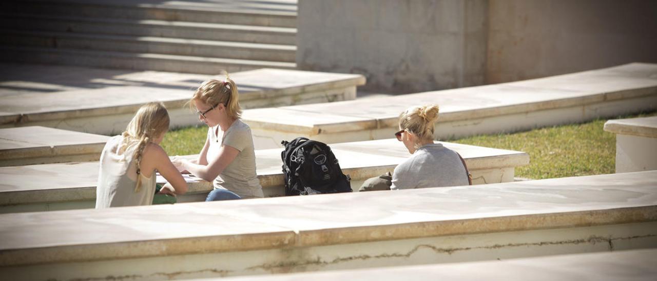
{"label": "light gray t-shirt on the ponytailed woman wearing glasses", "polygon": [[219,155],[221,145],[239,150],[231,162],[214,180],[214,188],[231,190],[241,198],[262,198],[262,186],[256,175],[256,151],[254,150],[251,128],[237,119],[223,133],[219,125],[208,129],[210,148],[206,160],[210,163]]}

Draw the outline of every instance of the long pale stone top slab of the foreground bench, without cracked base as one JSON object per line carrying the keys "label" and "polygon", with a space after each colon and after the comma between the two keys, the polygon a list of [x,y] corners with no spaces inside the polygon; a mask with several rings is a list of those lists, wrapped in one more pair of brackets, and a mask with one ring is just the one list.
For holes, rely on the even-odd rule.
{"label": "long pale stone top slab of the foreground bench, without cracked base", "polygon": [[15,213],[0,215],[0,265],[655,220],[657,171],[487,186]]}

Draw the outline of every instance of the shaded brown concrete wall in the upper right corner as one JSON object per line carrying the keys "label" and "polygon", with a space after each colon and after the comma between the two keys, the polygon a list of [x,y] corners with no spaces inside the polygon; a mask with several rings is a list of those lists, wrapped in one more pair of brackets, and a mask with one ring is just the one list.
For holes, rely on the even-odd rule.
{"label": "shaded brown concrete wall in the upper right corner", "polygon": [[489,1],[486,83],[628,62],[657,62],[657,1]]}

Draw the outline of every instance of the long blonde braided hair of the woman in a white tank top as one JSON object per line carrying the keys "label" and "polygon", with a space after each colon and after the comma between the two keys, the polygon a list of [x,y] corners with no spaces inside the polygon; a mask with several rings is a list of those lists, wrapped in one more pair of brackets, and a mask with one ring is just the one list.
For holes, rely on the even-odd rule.
{"label": "long blonde braided hair of the woman in a white tank top", "polygon": [[125,131],[121,134],[124,139],[122,143],[122,151],[127,150],[131,146],[137,146],[133,158],[137,165],[137,186],[135,192],[139,192],[141,187],[141,157],[144,148],[148,142],[160,137],[163,133],[169,130],[169,113],[167,112],[162,102],[149,102],[141,106],[137,110],[137,114],[132,118],[130,123],[127,124]]}

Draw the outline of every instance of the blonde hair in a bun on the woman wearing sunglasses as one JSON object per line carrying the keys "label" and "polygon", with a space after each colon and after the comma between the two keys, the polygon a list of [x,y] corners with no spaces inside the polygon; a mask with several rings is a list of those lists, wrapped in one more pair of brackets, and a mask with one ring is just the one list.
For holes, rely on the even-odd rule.
{"label": "blonde hair in a bun on the woman wearing sunglasses", "polygon": [[438,120],[438,104],[412,106],[399,114],[399,128],[416,135],[419,141],[434,139],[434,123]]}

